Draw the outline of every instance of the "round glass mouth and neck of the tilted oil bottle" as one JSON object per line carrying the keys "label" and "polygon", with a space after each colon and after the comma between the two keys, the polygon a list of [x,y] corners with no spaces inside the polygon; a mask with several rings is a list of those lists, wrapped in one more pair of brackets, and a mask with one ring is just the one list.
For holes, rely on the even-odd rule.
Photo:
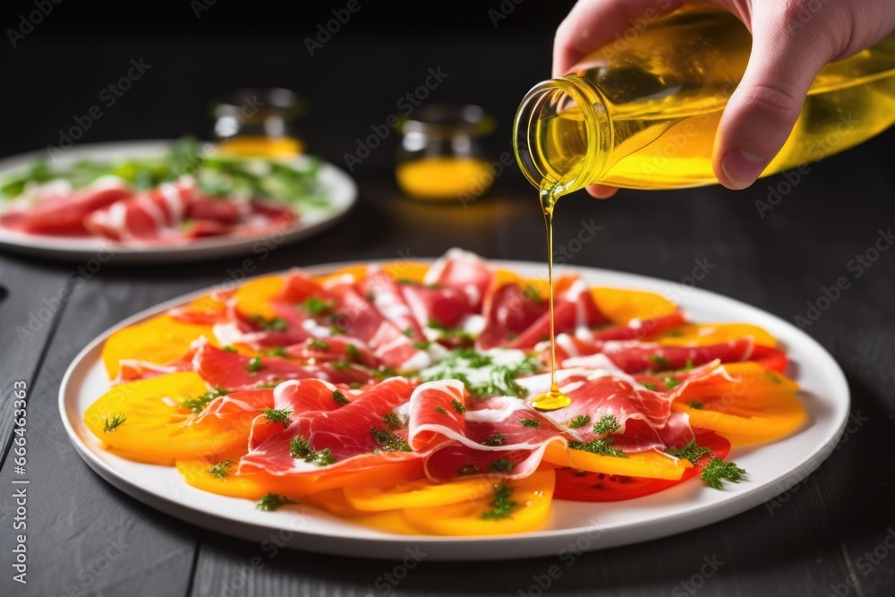
{"label": "round glass mouth and neck of the tilted oil bottle", "polygon": [[598,181],[613,147],[606,98],[576,75],[535,85],[516,111],[513,131],[523,174],[538,188],[556,186],[556,196]]}

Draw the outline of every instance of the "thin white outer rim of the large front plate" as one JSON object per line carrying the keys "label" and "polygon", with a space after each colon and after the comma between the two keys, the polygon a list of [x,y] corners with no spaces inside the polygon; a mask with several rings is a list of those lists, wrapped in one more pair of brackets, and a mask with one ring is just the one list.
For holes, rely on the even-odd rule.
{"label": "thin white outer rim of the large front plate", "polygon": [[[436,259],[438,258],[414,258],[412,261],[431,263]],[[392,263],[395,261],[396,260],[349,260],[314,264],[311,266],[302,266],[301,268],[296,269],[301,269],[302,271],[310,273],[311,275],[320,276],[352,266],[377,264],[381,265],[385,263]],[[513,267],[518,268],[520,266],[523,269],[536,269],[545,267],[545,264],[537,261],[491,259],[485,259],[485,261],[492,267],[506,267],[508,269],[511,269]],[[258,277],[285,275],[288,274],[290,270],[291,269],[277,270],[274,272],[259,274],[252,277],[246,277],[240,282],[241,284],[244,284],[248,281],[251,281],[251,279],[255,279]],[[630,286],[632,289],[650,290],[652,292],[656,292],[656,290],[651,289],[648,286],[679,284],[678,282],[674,282],[661,277],[644,276],[613,269],[592,268],[588,266],[575,267],[567,265],[563,267],[563,270],[580,271],[583,276],[586,275],[597,277],[609,275],[609,277],[621,278],[623,281],[625,281],[623,283],[630,283],[632,285]],[[617,284],[608,286],[620,287]],[[111,485],[115,486],[116,489],[122,490],[125,494],[131,496],[134,499],[140,500],[142,503],[148,505],[149,507],[161,511],[163,514],[174,516],[175,518],[188,522],[192,525],[197,525],[217,533],[224,533],[228,536],[234,536],[244,540],[260,541],[263,540],[265,537],[269,537],[270,534],[274,533],[279,527],[277,527],[276,525],[265,523],[247,523],[242,520],[235,520],[234,518],[228,516],[218,516],[213,513],[202,511],[197,507],[192,507],[191,505],[180,503],[174,498],[167,495],[162,495],[158,492],[152,492],[151,490],[144,489],[140,485],[127,479],[123,473],[115,471],[114,467],[108,465],[96,454],[94,454],[90,446],[88,446],[86,443],[83,442],[83,440],[81,440],[80,435],[74,429],[72,422],[69,420],[68,416],[68,408],[66,403],[68,402],[67,394],[71,391],[69,385],[72,383],[72,378],[74,378],[74,376],[81,371],[81,368],[84,368],[84,371],[90,370],[90,367],[93,365],[90,364],[88,357],[94,351],[98,351],[101,349],[101,345],[105,342],[107,337],[115,333],[115,331],[117,331],[118,329],[133,325],[134,323],[137,323],[141,320],[145,320],[158,315],[158,313],[160,312],[191,301],[192,299],[197,298],[203,294],[208,294],[210,290],[213,290],[215,288],[216,286],[207,286],[190,293],[175,296],[174,298],[162,303],[152,305],[147,309],[138,311],[125,318],[124,320],[119,321],[114,326],[107,328],[97,337],[93,338],[90,343],[85,345],[81,349],[81,351],[74,357],[64,373],[63,380],[59,388],[59,414],[63,420],[68,439],[72,442],[74,448],[81,456],[81,458],[87,463],[87,465],[90,466],[90,468],[95,473],[98,473],[98,475],[102,477],[105,482],[109,482]],[[580,536],[585,531],[592,528],[599,529],[598,538],[601,536],[602,533],[606,531],[614,531],[618,530],[619,528],[626,528],[630,530],[631,536],[630,538],[625,538],[621,541],[610,541],[602,543],[597,541],[595,542],[596,544],[590,545],[588,549],[585,549],[584,551],[609,549],[622,545],[652,541],[655,539],[660,539],[662,537],[695,530],[696,528],[712,525],[716,522],[720,522],[721,520],[725,520],[732,516],[737,516],[738,514],[746,512],[746,510],[757,507],[762,503],[768,502],[769,500],[775,498],[781,493],[786,492],[790,489],[790,487],[783,487],[782,490],[780,490],[781,486],[783,485],[783,483],[781,482],[790,477],[796,477],[798,482],[801,482],[805,479],[805,477],[807,477],[811,473],[814,473],[814,470],[816,470],[816,468],[821,465],[828,456],[831,455],[832,451],[839,443],[843,433],[846,430],[850,414],[851,391],[848,386],[848,380],[845,376],[845,373],[842,371],[839,362],[837,362],[832,357],[832,355],[829,353],[829,351],[826,350],[826,348],[823,347],[823,345],[817,342],[814,337],[809,336],[803,329],[797,328],[796,326],[789,323],[787,320],[783,320],[779,316],[774,315],[769,311],[754,307],[749,303],[742,302],[725,294],[716,293],[712,290],[691,287],[689,288],[688,292],[694,292],[696,295],[695,299],[690,300],[696,300],[698,302],[700,300],[700,295],[704,295],[707,299],[713,302],[720,301],[721,303],[730,303],[737,306],[738,308],[746,308],[747,310],[759,313],[762,315],[763,318],[773,321],[774,325],[782,325],[784,328],[788,328],[788,331],[790,333],[795,333],[797,336],[801,337],[800,340],[802,342],[806,342],[807,345],[815,353],[823,355],[823,358],[827,361],[826,363],[823,363],[823,368],[828,369],[828,374],[835,378],[840,385],[840,388],[838,388],[838,390],[837,388],[833,388],[828,394],[824,396],[824,398],[827,398],[828,400],[832,398],[834,404],[840,406],[843,412],[843,414],[836,421],[838,424],[831,427],[832,431],[826,435],[826,440],[823,442],[823,445],[817,446],[809,452],[806,452],[805,455],[798,460],[796,465],[790,466],[785,472],[777,474],[771,479],[764,480],[758,487],[737,492],[736,494],[733,494],[729,499],[721,499],[716,503],[703,505],[703,507],[697,508],[696,504],[694,503],[685,511],[678,513],[677,516],[669,517],[668,515],[664,515],[661,517],[661,520],[645,520],[633,525],[629,522],[619,522],[618,524],[601,525],[599,527],[580,526],[576,527],[575,529],[553,529],[549,531],[533,531],[529,533],[510,535],[465,537],[388,533],[381,537],[352,538],[348,534],[318,532],[303,533],[299,531],[294,532],[293,534],[298,537],[308,539],[311,542],[310,545],[306,543],[290,542],[286,545],[286,547],[294,550],[311,550],[318,553],[326,553],[332,555],[382,560],[396,560],[403,558],[406,555],[405,546],[411,543],[422,545],[426,549],[433,550],[433,552],[430,553],[428,559],[437,561],[542,557],[551,554],[555,555],[563,545],[567,544],[567,542],[574,541],[575,537]],[[687,302],[688,301],[686,300],[681,300],[680,303],[678,303],[678,308],[686,311]],[[838,391],[841,391],[841,397],[843,398],[843,400],[840,400]],[[75,398],[72,397],[72,400],[74,399]],[[76,405],[72,405],[72,407],[74,406]],[[82,415],[82,413],[80,412],[77,414],[79,416]],[[802,429],[802,431],[804,431],[804,428]],[[790,434],[787,436],[787,438],[784,439],[795,437],[796,435],[797,433]],[[768,445],[773,444],[771,443]],[[115,457],[121,458],[120,456]],[[121,459],[126,462],[131,462],[127,461],[124,458]],[[229,498],[226,496],[217,497],[226,500],[233,500],[234,502],[246,501],[244,499]],[[647,496],[647,498],[648,497],[649,496]],[[584,503],[574,501],[567,502],[566,500],[558,501],[564,503]],[[165,504],[165,506],[160,507],[158,505],[159,503],[163,503]],[[289,512],[289,510],[286,510],[284,512]],[[320,512],[318,510],[313,510],[313,512],[315,516],[331,517],[330,515],[327,515],[326,513]],[[199,518],[197,518],[197,516],[199,516]],[[270,515],[266,514],[265,516]],[[228,525],[226,532],[222,532],[220,530],[222,524]],[[651,530],[647,528],[650,525],[662,525],[663,530],[657,533],[655,529]],[[526,542],[537,542],[539,543],[539,545],[542,545],[547,549],[526,549],[524,548]],[[484,550],[476,550],[474,553],[467,553],[465,555],[457,552],[457,546],[468,546],[470,544],[475,544],[478,546],[484,545],[486,547],[484,548]],[[347,549],[346,545],[349,546]],[[360,549],[358,549],[358,546],[361,546]],[[550,547],[548,548],[547,546]],[[495,548],[497,547],[499,547],[500,550],[496,550]]]}

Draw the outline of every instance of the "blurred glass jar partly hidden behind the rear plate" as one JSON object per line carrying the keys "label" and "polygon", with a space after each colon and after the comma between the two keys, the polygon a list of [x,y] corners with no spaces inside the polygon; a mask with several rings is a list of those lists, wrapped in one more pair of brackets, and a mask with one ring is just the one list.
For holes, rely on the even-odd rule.
{"label": "blurred glass jar partly hidden behind the rear plate", "polygon": [[214,137],[224,154],[294,158],[303,153],[294,121],[304,104],[294,91],[280,88],[234,90],[212,105]]}

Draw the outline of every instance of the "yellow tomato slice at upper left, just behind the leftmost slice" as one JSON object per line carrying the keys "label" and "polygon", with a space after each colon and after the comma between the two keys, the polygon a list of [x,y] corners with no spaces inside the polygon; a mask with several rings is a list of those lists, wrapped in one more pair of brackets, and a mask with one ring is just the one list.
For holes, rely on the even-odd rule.
{"label": "yellow tomato slice at upper left, just behind the leftmost slice", "polygon": [[183,356],[192,341],[202,336],[217,346],[211,326],[183,323],[169,315],[158,315],[119,329],[108,337],[103,345],[103,364],[106,365],[109,379],[114,380],[122,359],[139,359],[164,365]]}

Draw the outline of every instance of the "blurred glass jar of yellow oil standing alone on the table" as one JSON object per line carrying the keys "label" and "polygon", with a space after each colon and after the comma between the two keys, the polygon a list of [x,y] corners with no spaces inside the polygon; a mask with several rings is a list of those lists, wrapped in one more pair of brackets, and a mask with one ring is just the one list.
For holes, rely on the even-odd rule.
{"label": "blurred glass jar of yellow oil standing alone on the table", "polygon": [[417,108],[400,125],[396,179],[408,197],[458,200],[481,197],[494,183],[482,137],[494,120],[478,106],[430,104]]}

